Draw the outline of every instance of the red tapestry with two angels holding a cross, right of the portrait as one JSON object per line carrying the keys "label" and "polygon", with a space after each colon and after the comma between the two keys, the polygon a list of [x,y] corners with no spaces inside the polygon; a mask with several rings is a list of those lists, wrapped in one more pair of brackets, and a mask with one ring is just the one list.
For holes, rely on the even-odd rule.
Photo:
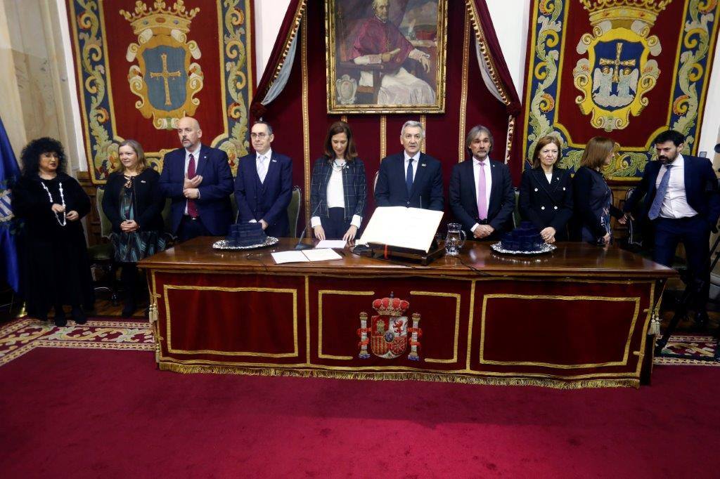
{"label": "red tapestry with two angels holding a cross, right of the portrait", "polygon": [[719,0],[534,0],[524,102],[525,168],[539,138],[575,169],[590,138],[618,155],[606,175],[642,176],[672,128],[696,155],[716,47]]}

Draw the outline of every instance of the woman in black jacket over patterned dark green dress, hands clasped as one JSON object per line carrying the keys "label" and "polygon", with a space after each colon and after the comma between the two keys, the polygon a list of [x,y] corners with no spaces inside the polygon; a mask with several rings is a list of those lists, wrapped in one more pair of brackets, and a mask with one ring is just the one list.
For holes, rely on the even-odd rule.
{"label": "woman in black jacket over patterned dark green dress, hands clasped", "polygon": [[110,241],[115,261],[122,264],[120,282],[125,289],[122,316],[129,318],[140,299],[138,261],[165,249],[162,217],[165,199],[158,187],[160,175],[148,168],[140,143],[125,140],[118,153],[120,169],[107,178],[102,211],[112,224]]}

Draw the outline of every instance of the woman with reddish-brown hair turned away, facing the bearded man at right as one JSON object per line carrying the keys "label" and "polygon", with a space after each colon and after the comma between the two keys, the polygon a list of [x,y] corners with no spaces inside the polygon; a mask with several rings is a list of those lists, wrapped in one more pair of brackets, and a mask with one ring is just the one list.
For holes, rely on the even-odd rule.
{"label": "woman with reddish-brown hair turned away, facing the bearded man at right", "polygon": [[575,215],[572,219],[572,239],[594,245],[609,245],[612,238],[610,217],[619,218],[622,212],[613,206],[613,195],[602,169],[615,158],[615,142],[606,137],[590,138],[582,152],[580,168],[572,179]]}

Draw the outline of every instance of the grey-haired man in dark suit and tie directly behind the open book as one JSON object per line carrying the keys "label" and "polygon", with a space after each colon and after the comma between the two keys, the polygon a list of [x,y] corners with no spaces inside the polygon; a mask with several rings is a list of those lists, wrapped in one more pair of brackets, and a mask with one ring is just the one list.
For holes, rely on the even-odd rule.
{"label": "grey-haired man in dark suit and tie directly behind the open book", "polygon": [[402,153],[382,159],[375,186],[377,206],[407,206],[443,211],[443,172],[440,162],[420,152],[425,130],[420,122],[400,129]]}

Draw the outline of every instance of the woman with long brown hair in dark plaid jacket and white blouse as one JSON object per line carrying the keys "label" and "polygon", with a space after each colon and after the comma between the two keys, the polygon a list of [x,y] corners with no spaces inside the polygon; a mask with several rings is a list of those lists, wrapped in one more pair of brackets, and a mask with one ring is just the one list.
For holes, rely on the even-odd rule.
{"label": "woman with long brown hair in dark plaid jacket and white blouse", "polygon": [[352,242],[365,209],[365,165],[346,122],[330,125],[310,182],[310,226],[318,239]]}

